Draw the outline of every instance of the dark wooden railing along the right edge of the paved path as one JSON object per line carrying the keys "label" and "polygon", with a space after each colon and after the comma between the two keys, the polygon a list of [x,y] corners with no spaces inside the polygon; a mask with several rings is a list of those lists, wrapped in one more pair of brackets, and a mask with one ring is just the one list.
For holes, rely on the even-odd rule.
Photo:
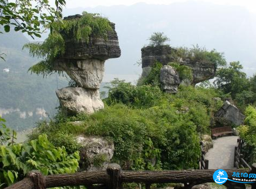
{"label": "dark wooden railing along the right edge of the paved path", "polygon": [[237,139],[237,146],[234,150],[234,167],[236,168],[248,168],[249,170],[252,167],[245,161],[244,154],[241,153],[242,147],[245,145],[244,141],[240,138]]}

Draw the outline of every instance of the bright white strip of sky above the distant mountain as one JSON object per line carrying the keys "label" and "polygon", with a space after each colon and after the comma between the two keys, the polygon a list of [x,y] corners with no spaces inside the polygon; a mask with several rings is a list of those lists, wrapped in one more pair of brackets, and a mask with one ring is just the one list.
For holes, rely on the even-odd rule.
{"label": "bright white strip of sky above the distant mountain", "polygon": [[[50,0],[54,2],[55,0]],[[66,8],[77,8],[77,7],[88,7],[88,6],[111,6],[111,5],[132,5],[139,2],[149,4],[171,4],[173,2],[185,2],[194,0],[66,0]],[[226,5],[240,5],[246,7],[251,12],[256,13],[256,1],[255,0],[201,0],[204,2],[212,2],[215,4],[226,4]]]}

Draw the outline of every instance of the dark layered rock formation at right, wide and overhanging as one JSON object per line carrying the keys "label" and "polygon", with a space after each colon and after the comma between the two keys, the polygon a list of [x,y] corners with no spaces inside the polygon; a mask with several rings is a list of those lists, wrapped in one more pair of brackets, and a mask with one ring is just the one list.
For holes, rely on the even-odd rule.
{"label": "dark layered rock formation at right, wide and overhanging", "polygon": [[[169,45],[146,46],[142,48],[142,77],[149,75],[151,66],[155,62],[160,62],[163,65],[172,62],[174,60],[173,53],[176,51],[176,49],[171,48]],[[215,76],[216,66],[212,62],[183,60],[181,58],[179,58],[178,62],[191,68],[193,74],[192,85],[212,79]]]}

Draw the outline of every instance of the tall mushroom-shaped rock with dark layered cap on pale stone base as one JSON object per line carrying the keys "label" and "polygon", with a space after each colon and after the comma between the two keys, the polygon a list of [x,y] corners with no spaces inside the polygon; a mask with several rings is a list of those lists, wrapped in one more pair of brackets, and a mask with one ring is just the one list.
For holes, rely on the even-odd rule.
{"label": "tall mushroom-shaped rock with dark layered cap on pale stone base", "polygon": [[[81,17],[74,15],[64,19]],[[106,59],[121,55],[114,23],[110,23],[110,26],[112,31],[107,31],[105,38],[92,35],[89,42],[60,32],[65,40],[65,53],[53,62],[52,67],[57,71],[65,71],[78,86],[56,91],[60,105],[70,114],[93,113],[104,108],[98,91],[104,75],[104,63]]]}

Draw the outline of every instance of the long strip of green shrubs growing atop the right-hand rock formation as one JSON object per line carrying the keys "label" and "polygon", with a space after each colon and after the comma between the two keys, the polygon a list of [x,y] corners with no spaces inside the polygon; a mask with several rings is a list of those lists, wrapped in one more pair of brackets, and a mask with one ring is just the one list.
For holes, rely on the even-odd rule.
{"label": "long strip of green shrubs growing atop the right-hand rock formation", "polygon": [[176,55],[192,61],[212,62],[216,67],[226,65],[223,52],[217,52],[215,49],[207,51],[205,48],[200,48],[198,44],[193,45],[193,48],[180,47],[177,49]]}

